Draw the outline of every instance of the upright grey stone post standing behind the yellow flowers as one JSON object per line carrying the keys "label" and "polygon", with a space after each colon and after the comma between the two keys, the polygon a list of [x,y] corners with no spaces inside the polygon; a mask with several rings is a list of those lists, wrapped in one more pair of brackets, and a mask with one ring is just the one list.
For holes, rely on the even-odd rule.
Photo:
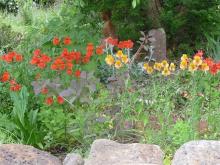
{"label": "upright grey stone post standing behind the yellow flowers", "polygon": [[166,33],[163,28],[152,29],[148,32],[150,37],[150,46],[153,46],[153,59],[161,62],[166,60]]}

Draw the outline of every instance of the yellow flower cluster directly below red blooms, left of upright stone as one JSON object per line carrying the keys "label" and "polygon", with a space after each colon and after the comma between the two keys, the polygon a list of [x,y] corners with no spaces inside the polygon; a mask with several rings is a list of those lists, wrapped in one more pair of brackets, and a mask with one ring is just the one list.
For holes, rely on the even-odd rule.
{"label": "yellow flower cluster directly below red blooms, left of upright stone", "polygon": [[123,64],[128,64],[129,60],[122,50],[119,50],[115,55],[107,55],[105,58],[105,62],[110,66],[113,65],[116,69],[123,67]]}

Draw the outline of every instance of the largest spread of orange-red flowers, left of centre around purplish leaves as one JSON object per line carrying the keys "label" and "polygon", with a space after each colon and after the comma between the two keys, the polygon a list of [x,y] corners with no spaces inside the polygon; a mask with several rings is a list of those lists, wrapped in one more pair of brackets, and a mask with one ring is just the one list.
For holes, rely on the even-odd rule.
{"label": "largest spread of orange-red flowers, left of centre around purplish leaves", "polygon": [[[72,40],[70,37],[65,37],[63,41],[61,42],[61,40],[58,37],[54,37],[52,40],[52,43],[54,46],[61,47],[63,45],[70,45],[72,43]],[[56,76],[57,75],[62,76],[63,73],[66,73],[69,76],[74,75],[76,78],[80,78],[81,69],[83,68],[83,65],[86,65],[91,61],[94,53],[96,53],[97,55],[102,55],[103,52],[104,51],[103,51],[102,46],[95,47],[92,43],[87,44],[85,54],[82,54],[81,52],[76,51],[76,50],[68,50],[67,48],[64,47],[59,55],[50,57],[50,56],[47,56],[41,53],[40,49],[37,49],[34,51],[34,55],[30,63],[32,65],[36,65],[38,68],[47,69],[47,71],[49,72],[55,71],[59,73],[59,74],[56,74]],[[44,66],[44,67],[41,67],[41,66]],[[40,82],[43,78],[38,73],[35,79],[38,82]],[[69,80],[72,80],[72,79],[69,79]],[[54,100],[56,100],[58,104],[64,103],[64,97],[60,96],[54,90],[49,90],[50,88],[48,89],[47,85],[42,86],[41,84],[39,85],[39,88],[41,88],[40,93],[44,95],[45,97],[45,104],[52,105],[55,102]]]}

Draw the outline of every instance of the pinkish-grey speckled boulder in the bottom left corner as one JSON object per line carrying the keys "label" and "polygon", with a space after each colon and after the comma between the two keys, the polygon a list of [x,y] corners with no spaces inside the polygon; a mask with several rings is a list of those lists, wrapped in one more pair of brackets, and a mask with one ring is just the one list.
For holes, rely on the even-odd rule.
{"label": "pinkish-grey speckled boulder in the bottom left corner", "polygon": [[61,165],[58,158],[32,146],[0,145],[0,165]]}

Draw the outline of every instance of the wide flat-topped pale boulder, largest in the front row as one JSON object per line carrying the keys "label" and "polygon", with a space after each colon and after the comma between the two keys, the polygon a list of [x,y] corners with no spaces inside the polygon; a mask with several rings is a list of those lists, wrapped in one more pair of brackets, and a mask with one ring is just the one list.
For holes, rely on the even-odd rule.
{"label": "wide flat-topped pale boulder, largest in the front row", "polygon": [[95,140],[85,165],[162,165],[164,154],[159,146],[120,144],[111,140]]}

